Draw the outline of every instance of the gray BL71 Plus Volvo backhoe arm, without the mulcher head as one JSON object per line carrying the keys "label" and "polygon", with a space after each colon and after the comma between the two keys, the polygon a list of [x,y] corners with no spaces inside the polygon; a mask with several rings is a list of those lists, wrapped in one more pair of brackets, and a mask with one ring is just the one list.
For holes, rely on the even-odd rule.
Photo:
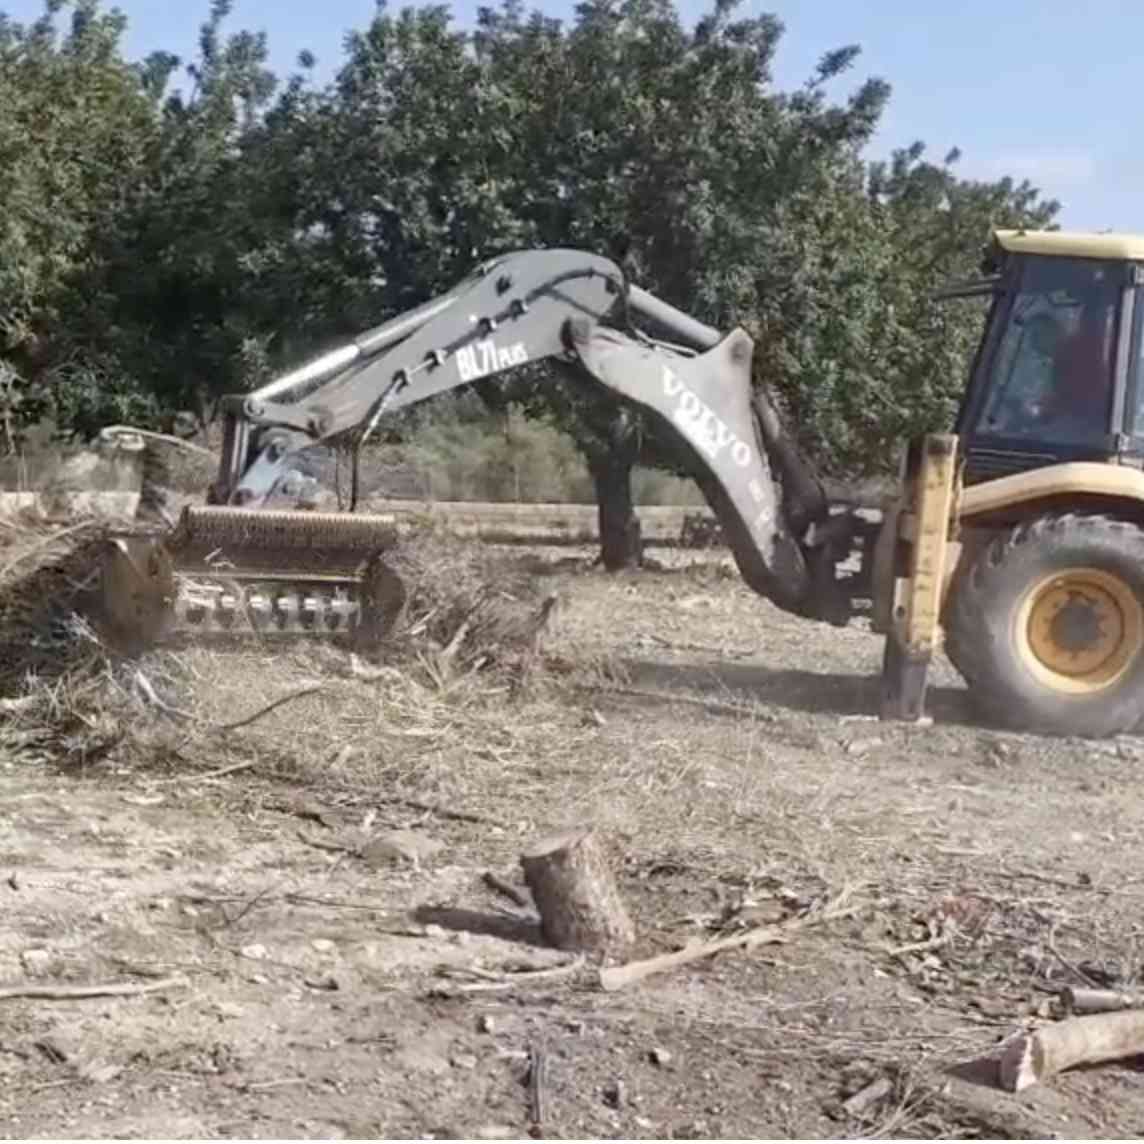
{"label": "gray BL71 Plus Volvo backhoe arm, without the mulcher head", "polygon": [[[634,316],[673,341],[653,341]],[[559,359],[676,431],[756,591],[788,611],[842,622],[816,570],[824,562],[833,567],[829,546],[813,540],[815,526],[827,523],[825,498],[776,437],[765,398],[756,395],[753,404],[752,356],[744,331],[723,335],[697,321],[627,284],[607,259],[571,249],[508,254],[349,345],[229,399],[212,499],[264,501],[302,448],[347,436],[360,445],[387,413]]]}

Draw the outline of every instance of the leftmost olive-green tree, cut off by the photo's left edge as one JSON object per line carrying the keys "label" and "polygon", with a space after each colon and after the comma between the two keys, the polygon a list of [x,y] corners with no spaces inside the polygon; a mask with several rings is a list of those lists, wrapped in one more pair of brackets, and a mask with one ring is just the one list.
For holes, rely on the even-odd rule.
{"label": "leftmost olive-green tree, cut off by the photo's left edge", "polygon": [[[57,17],[67,9],[61,33]],[[74,327],[77,283],[96,236],[114,225],[142,177],[152,140],[140,69],[120,51],[124,29],[124,17],[101,14],[96,0],[49,0],[30,26],[0,14],[0,363],[9,424],[146,405],[116,363],[85,352]]]}

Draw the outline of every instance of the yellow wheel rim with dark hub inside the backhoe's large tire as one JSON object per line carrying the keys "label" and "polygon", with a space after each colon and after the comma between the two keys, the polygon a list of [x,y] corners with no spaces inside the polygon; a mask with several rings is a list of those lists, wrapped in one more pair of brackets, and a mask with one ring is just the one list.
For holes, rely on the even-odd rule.
{"label": "yellow wheel rim with dark hub inside the backhoe's large tire", "polygon": [[1025,594],[1015,635],[1023,661],[1041,682],[1090,694],[1112,686],[1139,654],[1144,609],[1109,572],[1055,572]]}

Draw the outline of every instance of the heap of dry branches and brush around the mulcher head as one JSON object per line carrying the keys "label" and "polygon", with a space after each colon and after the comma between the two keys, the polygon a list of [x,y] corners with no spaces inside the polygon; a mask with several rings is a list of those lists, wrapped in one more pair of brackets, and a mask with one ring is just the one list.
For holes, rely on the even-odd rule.
{"label": "heap of dry branches and brush around the mulcher head", "polygon": [[[176,754],[185,757],[204,729],[228,721],[236,698],[244,706],[265,681],[272,699],[295,681],[299,649],[254,634],[238,648],[160,649],[134,658],[114,651],[87,619],[104,534],[97,521],[0,523],[0,748],[84,765],[170,754],[177,741]],[[516,693],[533,681],[555,605],[535,577],[477,543],[431,530],[404,537],[388,567],[399,606],[368,649],[373,668],[355,667],[344,648],[307,648],[305,674],[326,693],[324,702],[357,704],[358,722],[372,721],[362,686],[351,704],[344,683],[349,675],[368,692],[371,672],[406,680],[426,702],[436,697],[462,706],[490,685]],[[210,741],[217,752],[217,739]]]}

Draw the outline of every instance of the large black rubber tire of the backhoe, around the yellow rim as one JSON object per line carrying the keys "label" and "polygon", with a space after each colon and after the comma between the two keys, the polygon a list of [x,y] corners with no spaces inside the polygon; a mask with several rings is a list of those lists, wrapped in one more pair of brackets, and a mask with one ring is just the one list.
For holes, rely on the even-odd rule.
{"label": "large black rubber tire of the backhoe, around the yellow rim", "polygon": [[1144,648],[1113,684],[1070,694],[1025,665],[1012,631],[1022,596],[1055,571],[1093,567],[1117,577],[1144,607],[1144,531],[1106,516],[1023,522],[984,547],[951,586],[945,652],[990,722],[1043,734],[1106,738],[1144,716]]}

